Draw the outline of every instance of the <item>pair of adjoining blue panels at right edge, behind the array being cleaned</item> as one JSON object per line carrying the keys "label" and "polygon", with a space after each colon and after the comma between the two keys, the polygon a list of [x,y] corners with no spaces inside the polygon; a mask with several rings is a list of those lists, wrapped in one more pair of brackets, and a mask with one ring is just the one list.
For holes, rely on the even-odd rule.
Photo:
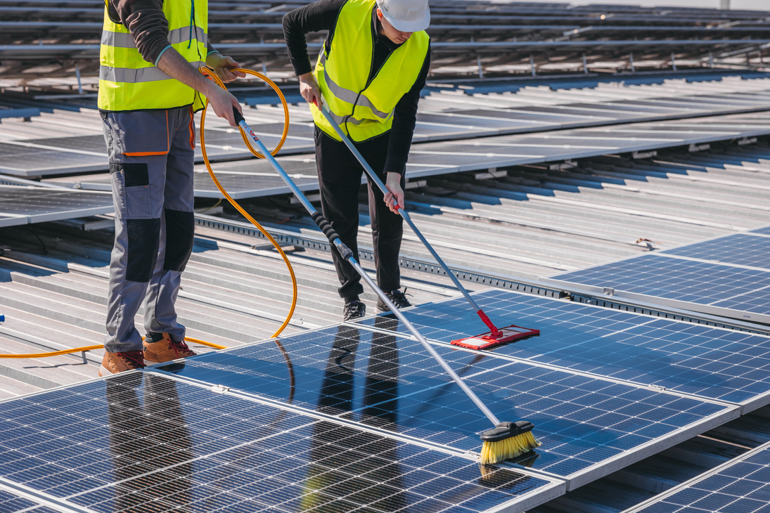
{"label": "pair of adjoining blue panels at right edge, behind the array being cleaned", "polygon": [[[761,228],[766,230],[768,228]],[[758,232],[762,233],[762,232]],[[744,320],[770,321],[770,239],[752,232],[548,278]],[[651,296],[651,297],[649,297]]]}

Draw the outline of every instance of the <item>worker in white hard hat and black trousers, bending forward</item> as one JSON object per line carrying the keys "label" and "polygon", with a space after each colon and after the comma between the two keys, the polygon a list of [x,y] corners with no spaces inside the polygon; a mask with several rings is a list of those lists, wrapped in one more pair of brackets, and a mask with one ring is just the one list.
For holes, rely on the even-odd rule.
{"label": "worker in white hard hat and black trousers, bending forward", "polygon": [[[400,290],[398,255],[404,174],[417,121],[417,102],[430,66],[427,0],[320,0],[283,17],[283,35],[300,94],[315,122],[316,165],[321,212],[358,258],[358,192],[363,167],[329,125],[320,108],[328,102],[332,118],[388,190],[369,182],[377,285],[397,308],[410,306]],[[313,70],[305,35],[328,31]],[[343,318],[366,315],[360,301],[360,275],[332,246],[340,278]],[[380,311],[387,305],[377,301]]]}

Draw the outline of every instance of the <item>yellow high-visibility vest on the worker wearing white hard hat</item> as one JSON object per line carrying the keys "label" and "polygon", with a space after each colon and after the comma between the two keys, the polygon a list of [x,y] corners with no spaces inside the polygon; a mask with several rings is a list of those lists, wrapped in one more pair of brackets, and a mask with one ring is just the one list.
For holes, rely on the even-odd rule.
{"label": "yellow high-visibility vest on the worker wearing white hard hat", "polygon": [[[374,3],[375,0],[345,2],[330,48],[327,52],[323,45],[313,71],[332,118],[355,142],[390,130],[393,110],[417,81],[430,42],[425,31],[414,32],[379,70],[374,70],[369,82],[374,56]],[[310,105],[310,111],[316,126],[339,141],[339,135],[318,108]]]}

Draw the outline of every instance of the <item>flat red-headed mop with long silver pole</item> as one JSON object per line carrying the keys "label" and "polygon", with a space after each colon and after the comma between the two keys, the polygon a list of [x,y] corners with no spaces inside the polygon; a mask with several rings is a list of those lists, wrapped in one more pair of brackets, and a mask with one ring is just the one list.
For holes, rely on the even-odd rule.
{"label": "flat red-headed mop with long silver pole", "polygon": [[[382,180],[380,180],[380,177],[377,176],[377,173],[374,172],[374,170],[371,168],[371,166],[366,161],[366,159],[363,158],[363,155],[361,155],[360,152],[357,150],[357,148],[353,146],[353,143],[350,142],[349,138],[347,138],[345,133],[342,131],[342,128],[340,128],[340,126],[336,124],[334,119],[331,117],[328,108],[326,107],[326,103],[323,104],[323,108],[320,108],[320,111],[323,113],[323,116],[326,118],[326,121],[329,122],[330,125],[332,125],[332,128],[334,128],[334,132],[336,132],[337,135],[340,136],[340,138],[345,143],[345,145],[350,149],[350,152],[352,152],[353,155],[355,155],[358,162],[360,162],[360,164],[366,170],[370,180],[375,184],[377,184],[377,187],[380,188],[380,191],[383,192],[383,195],[387,195],[388,190],[385,187],[385,184],[383,184]],[[393,201],[393,203],[394,203],[393,208],[395,208],[396,211],[401,215],[403,220],[407,222],[407,225],[409,225],[409,227],[412,228],[412,232],[414,232],[414,235],[417,235],[417,238],[419,238],[420,241],[423,242],[427,250],[430,252],[430,255],[433,255],[433,257],[436,259],[439,265],[442,268],[444,268],[444,271],[447,273],[447,276],[450,277],[450,279],[454,282],[454,285],[460,290],[460,292],[463,293],[463,295],[465,296],[465,299],[468,301],[468,303],[470,303],[470,306],[474,308],[474,311],[476,311],[477,315],[481,318],[481,321],[484,321],[484,324],[487,325],[487,328],[490,329],[490,331],[487,331],[486,333],[482,333],[481,335],[474,335],[472,337],[453,340],[452,341],[453,345],[458,345],[460,347],[468,348],[468,349],[489,349],[489,348],[493,348],[496,345],[507,344],[508,342],[512,342],[520,338],[540,334],[540,330],[521,328],[521,326],[517,326],[517,325],[510,325],[510,326],[506,326],[505,328],[497,328],[497,326],[495,326],[494,323],[490,321],[490,318],[487,316],[487,314],[484,313],[484,310],[482,310],[481,307],[477,305],[476,301],[474,301],[474,298],[470,297],[470,294],[468,294],[468,291],[465,290],[463,285],[460,285],[460,280],[457,279],[457,276],[454,275],[454,272],[450,271],[450,268],[447,267],[447,264],[444,263],[444,260],[440,258],[440,256],[438,255],[436,250],[433,248],[433,246],[427,242],[427,239],[425,237],[423,237],[423,234],[420,232],[420,230],[417,229],[417,226],[414,225],[414,223],[412,222],[412,219],[409,217],[407,212],[403,209],[403,205],[398,205],[398,203],[395,202],[395,200]]]}

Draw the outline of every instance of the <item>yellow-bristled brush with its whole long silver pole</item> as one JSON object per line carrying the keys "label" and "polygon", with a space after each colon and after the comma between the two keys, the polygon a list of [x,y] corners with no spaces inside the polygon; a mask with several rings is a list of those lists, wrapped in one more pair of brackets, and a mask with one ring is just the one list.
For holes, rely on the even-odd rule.
{"label": "yellow-bristled brush with its whole long silver pole", "polygon": [[310,213],[310,217],[313,218],[314,222],[316,222],[316,225],[318,225],[318,228],[320,228],[321,232],[323,232],[323,235],[326,235],[326,238],[329,239],[330,244],[333,244],[334,247],[336,247],[342,258],[353,266],[361,278],[363,278],[363,281],[366,281],[372,290],[377,294],[377,297],[380,298],[380,300],[383,301],[383,303],[385,303],[388,308],[390,308],[390,311],[396,315],[398,320],[401,321],[403,325],[407,327],[407,329],[409,329],[411,334],[417,338],[417,341],[423,345],[423,348],[425,348],[425,350],[428,351],[428,353],[438,362],[438,364],[444,368],[444,371],[447,371],[447,374],[450,375],[452,379],[454,379],[457,385],[460,385],[460,388],[463,389],[468,398],[470,398],[471,401],[474,401],[474,404],[477,405],[477,407],[484,413],[484,415],[486,415],[487,418],[495,425],[495,428],[484,431],[481,434],[480,438],[483,443],[481,446],[481,454],[479,458],[480,463],[487,465],[497,463],[497,461],[503,461],[508,458],[516,458],[517,456],[538,447],[540,444],[534,439],[534,435],[532,435],[532,428],[534,428],[534,425],[532,425],[531,422],[500,422],[497,420],[497,417],[495,417],[494,413],[492,413],[492,411],[487,408],[487,405],[484,405],[484,402],[482,402],[480,398],[477,397],[477,395],[473,390],[470,389],[465,381],[463,381],[463,379],[457,375],[457,373],[449,366],[449,364],[444,361],[444,358],[441,358],[441,355],[438,354],[433,346],[428,344],[427,340],[423,338],[423,335],[420,335],[420,331],[417,331],[417,328],[415,328],[412,323],[408,321],[406,317],[404,317],[403,313],[401,313],[398,308],[396,308],[396,305],[393,305],[393,302],[390,301],[387,295],[385,295],[385,293],[377,286],[373,279],[367,275],[367,272],[364,271],[358,261],[356,261],[356,258],[353,256],[353,252],[350,250],[350,248],[348,248],[340,240],[340,236],[336,234],[334,228],[332,228],[332,225],[330,225],[330,223],[326,221],[325,218],[323,218],[323,214],[321,214],[321,212],[318,212],[316,208],[313,207],[313,204],[308,201],[308,199],[296,186],[290,176],[286,174],[278,161],[276,161],[273,155],[270,154],[269,150],[265,147],[263,142],[260,141],[252,129],[249,128],[249,125],[246,124],[246,120],[243,119],[243,115],[241,115],[241,113],[238,112],[236,108],[233,108],[233,114],[235,115],[236,122],[241,128],[241,133],[244,135],[244,137],[248,136],[256,144],[257,148],[259,148],[259,151],[262,152],[262,155],[264,155],[270,165],[275,168],[280,177],[283,178],[283,182],[286,182],[286,185],[289,186],[291,192],[293,192],[303,207],[306,208],[307,212]]}

